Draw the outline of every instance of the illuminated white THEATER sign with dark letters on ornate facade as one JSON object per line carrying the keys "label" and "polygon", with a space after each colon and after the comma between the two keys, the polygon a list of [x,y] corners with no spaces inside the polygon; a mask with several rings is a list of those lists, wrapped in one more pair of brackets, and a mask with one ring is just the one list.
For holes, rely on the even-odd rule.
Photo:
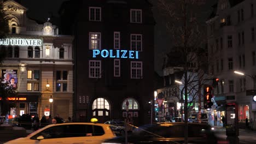
{"label": "illuminated white THEATER sign with dark letters on ornate facade", "polygon": [[41,46],[43,44],[42,39],[0,39],[0,45],[31,45]]}

